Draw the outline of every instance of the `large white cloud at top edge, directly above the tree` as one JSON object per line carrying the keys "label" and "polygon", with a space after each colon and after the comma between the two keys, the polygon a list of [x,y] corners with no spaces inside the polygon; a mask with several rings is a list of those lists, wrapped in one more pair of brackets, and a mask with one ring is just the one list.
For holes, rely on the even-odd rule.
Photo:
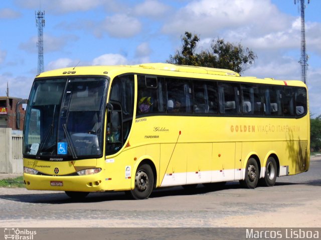
{"label": "large white cloud at top edge, directly above the tree", "polygon": [[284,29],[289,19],[270,0],[194,0],[169,17],[163,32],[182,34],[188,30],[213,37],[226,28],[248,28],[255,30],[252,34],[260,34]]}

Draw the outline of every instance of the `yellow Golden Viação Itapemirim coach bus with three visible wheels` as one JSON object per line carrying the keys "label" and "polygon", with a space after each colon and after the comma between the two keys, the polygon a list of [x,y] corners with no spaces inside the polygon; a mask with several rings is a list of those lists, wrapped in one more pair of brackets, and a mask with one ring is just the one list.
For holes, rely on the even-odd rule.
{"label": "yellow Golden Via\u00e7\u00e3o Itapemirim coach bus with three visible wheels", "polygon": [[146,63],[39,74],[24,124],[28,189],[70,197],[239,180],[309,167],[307,88],[227,69]]}

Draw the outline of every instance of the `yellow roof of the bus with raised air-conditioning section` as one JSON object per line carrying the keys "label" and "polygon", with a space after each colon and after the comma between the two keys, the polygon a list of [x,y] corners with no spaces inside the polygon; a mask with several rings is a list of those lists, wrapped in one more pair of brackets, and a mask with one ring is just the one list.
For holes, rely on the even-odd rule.
{"label": "yellow roof of the bus with raised air-conditioning section", "polygon": [[[155,70],[155,72],[153,72]],[[172,73],[169,73],[171,71]],[[177,65],[171,63],[142,63],[137,65],[96,65],[96,66],[75,66],[66,67],[50,71],[45,71],[36,76],[38,77],[52,77],[52,76],[65,76],[65,75],[109,75],[115,76],[118,74],[123,74],[126,72],[132,73],[144,73],[144,74],[157,74],[157,75],[171,75],[176,76],[177,73],[183,73],[182,76],[187,76],[189,73],[195,73],[196,78],[201,78],[201,75],[208,74],[209,79],[214,79],[213,76],[216,75],[218,79],[222,79],[224,76],[232,76],[234,81],[249,81],[256,83],[272,83],[280,85],[296,85],[305,86],[302,81],[299,80],[274,80],[273,78],[256,78],[240,76],[239,73],[221,68],[203,67],[203,66],[188,66],[188,65]],[[200,74],[200,75],[198,75]],[[212,77],[210,77],[212,75]],[[221,76],[221,77],[219,77]],[[204,75],[203,75],[204,77]],[[228,80],[224,77],[224,79]]]}

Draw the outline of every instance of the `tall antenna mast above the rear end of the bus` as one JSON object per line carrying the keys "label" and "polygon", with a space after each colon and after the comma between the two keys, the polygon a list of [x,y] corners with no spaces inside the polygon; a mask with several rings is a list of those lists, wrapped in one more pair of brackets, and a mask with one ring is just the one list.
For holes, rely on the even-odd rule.
{"label": "tall antenna mast above the rear end of the bus", "polygon": [[[299,63],[301,64],[301,81],[307,84],[306,79],[306,69],[307,69],[307,55],[305,50],[305,23],[304,23],[304,10],[305,10],[305,0],[294,0],[294,4],[296,1],[300,2],[301,6],[301,57]],[[307,3],[310,3],[310,0],[307,0]]]}

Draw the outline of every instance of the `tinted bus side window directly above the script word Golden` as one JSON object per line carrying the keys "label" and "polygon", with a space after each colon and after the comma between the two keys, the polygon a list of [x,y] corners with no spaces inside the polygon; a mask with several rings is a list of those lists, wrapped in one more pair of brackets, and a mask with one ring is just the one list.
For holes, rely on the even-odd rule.
{"label": "tinted bus side window directly above the script word Golden", "polygon": [[218,112],[218,94],[216,82],[195,80],[193,82],[193,89],[195,113]]}

